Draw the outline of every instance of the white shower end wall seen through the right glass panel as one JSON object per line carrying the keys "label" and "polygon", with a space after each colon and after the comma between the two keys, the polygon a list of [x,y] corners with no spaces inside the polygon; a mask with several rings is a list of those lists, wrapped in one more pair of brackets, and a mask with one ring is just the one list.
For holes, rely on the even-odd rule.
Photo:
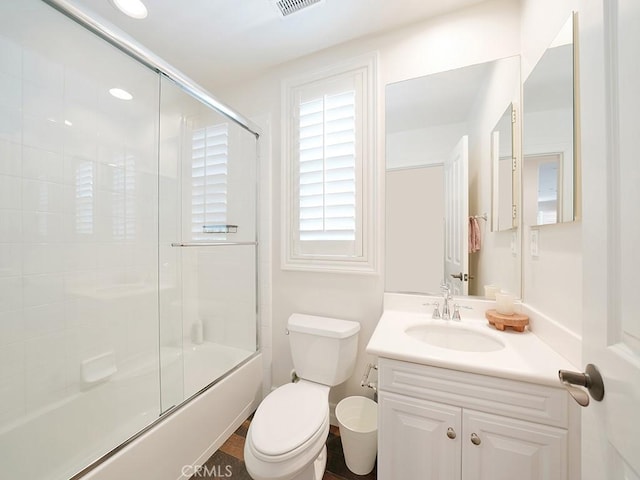
{"label": "white shower end wall seen through the right glass panel", "polygon": [[[226,124],[227,159],[225,222],[237,225],[236,233],[212,240],[252,242],[255,240],[256,197],[255,138],[228,119],[213,114],[195,102],[184,102],[183,118],[191,128]],[[165,124],[163,136],[180,124]],[[173,133],[175,138],[182,130]],[[187,152],[185,152],[187,153]],[[185,160],[182,168],[182,235],[185,241],[198,241],[191,223],[193,216],[192,164]],[[204,340],[249,351],[256,346],[256,260],[253,246],[219,246],[182,249],[182,336],[192,341],[194,325],[202,323]]]}

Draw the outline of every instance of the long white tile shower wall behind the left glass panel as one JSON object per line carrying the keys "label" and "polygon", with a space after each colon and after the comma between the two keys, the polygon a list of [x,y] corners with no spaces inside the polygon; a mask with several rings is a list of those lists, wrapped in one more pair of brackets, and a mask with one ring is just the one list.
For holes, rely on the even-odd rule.
{"label": "long white tile shower wall behind the left glass panel", "polygon": [[0,425],[157,351],[157,80],[125,107],[37,48],[0,37]]}

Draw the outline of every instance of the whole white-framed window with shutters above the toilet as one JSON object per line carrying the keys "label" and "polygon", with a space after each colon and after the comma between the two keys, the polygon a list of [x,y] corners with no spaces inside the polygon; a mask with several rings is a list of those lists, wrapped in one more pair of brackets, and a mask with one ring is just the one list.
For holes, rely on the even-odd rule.
{"label": "whole white-framed window with shutters above the toilet", "polygon": [[285,82],[283,268],[375,271],[375,58]]}

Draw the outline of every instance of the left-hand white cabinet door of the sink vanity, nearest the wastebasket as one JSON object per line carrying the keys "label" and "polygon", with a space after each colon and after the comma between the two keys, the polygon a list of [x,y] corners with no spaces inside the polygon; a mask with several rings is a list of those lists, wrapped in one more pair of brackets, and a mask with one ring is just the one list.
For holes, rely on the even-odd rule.
{"label": "left-hand white cabinet door of the sink vanity, nearest the wastebasket", "polygon": [[379,480],[460,479],[460,408],[387,392],[379,408]]}

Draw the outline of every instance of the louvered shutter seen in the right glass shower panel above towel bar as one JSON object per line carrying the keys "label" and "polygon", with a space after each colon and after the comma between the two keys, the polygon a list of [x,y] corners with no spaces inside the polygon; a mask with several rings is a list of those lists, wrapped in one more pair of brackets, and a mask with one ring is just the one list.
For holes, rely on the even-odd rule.
{"label": "louvered shutter seen in the right glass shower panel above towel bar", "polygon": [[226,123],[193,130],[191,148],[191,235],[211,239],[205,225],[227,223],[229,128]]}

